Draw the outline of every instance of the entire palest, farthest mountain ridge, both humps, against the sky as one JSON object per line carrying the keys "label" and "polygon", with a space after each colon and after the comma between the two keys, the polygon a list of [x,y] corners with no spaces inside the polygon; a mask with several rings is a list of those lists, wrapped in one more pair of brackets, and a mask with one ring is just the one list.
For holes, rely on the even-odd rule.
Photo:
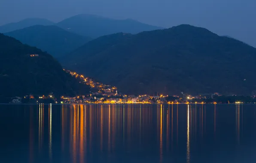
{"label": "entire palest, farthest mountain ridge, both humps, against the sky", "polygon": [[27,18],[15,23],[5,24],[0,26],[0,33],[8,33],[14,30],[23,29],[34,25],[55,25],[68,30],[72,33],[77,33],[82,36],[97,38],[113,33],[140,33],[142,31],[164,29],[149,24],[144,24],[133,19],[112,19],[98,15],[79,14],[66,18],[58,23],[53,23],[47,19]]}

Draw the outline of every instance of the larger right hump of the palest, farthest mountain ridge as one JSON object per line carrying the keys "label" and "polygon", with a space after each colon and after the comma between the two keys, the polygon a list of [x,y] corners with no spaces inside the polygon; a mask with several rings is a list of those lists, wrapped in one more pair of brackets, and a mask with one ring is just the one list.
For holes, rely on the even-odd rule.
{"label": "larger right hump of the palest, farthest mountain ridge", "polygon": [[67,18],[57,24],[59,27],[83,36],[97,38],[113,33],[139,33],[142,31],[162,29],[132,19],[116,20],[97,15],[81,14]]}

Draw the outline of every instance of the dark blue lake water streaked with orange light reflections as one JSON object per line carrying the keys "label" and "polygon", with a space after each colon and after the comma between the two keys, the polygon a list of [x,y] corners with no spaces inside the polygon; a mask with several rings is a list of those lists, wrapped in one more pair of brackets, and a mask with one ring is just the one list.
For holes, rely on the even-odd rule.
{"label": "dark blue lake water streaked with orange light reflections", "polygon": [[255,163],[256,105],[0,105],[0,163]]}

